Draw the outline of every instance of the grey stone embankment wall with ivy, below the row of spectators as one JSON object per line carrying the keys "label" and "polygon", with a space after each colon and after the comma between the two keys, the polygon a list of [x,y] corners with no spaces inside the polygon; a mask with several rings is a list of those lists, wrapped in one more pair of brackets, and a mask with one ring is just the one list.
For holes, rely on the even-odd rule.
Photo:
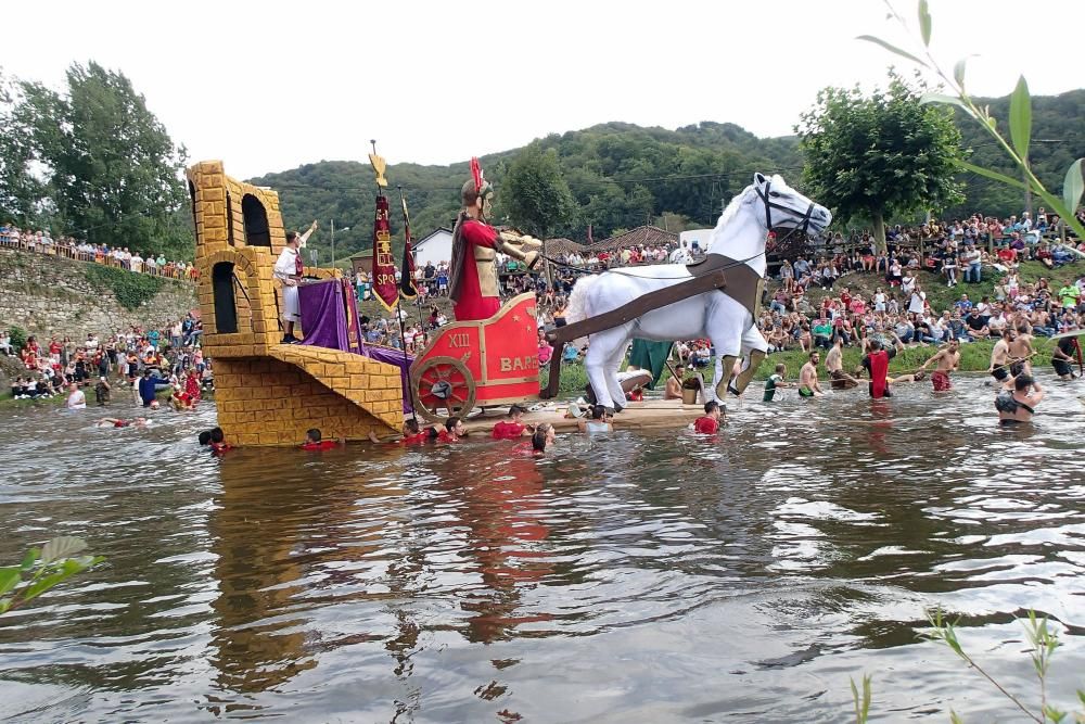
{"label": "grey stone embankment wall with ivy, below the row of spectators", "polygon": [[112,291],[90,282],[89,265],[0,249],[0,328],[80,340],[88,332],[105,335],[132,325],[163,329],[196,306],[195,284],[167,279],[149,303],[126,309]]}

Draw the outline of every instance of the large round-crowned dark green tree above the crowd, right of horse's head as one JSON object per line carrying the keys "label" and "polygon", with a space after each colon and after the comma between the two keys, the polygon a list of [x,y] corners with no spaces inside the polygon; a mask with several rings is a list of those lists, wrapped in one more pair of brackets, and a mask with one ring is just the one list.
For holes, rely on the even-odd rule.
{"label": "large round-crowned dark green tree above the crowd, right of horse's head", "polygon": [[937,212],[963,198],[954,180],[960,131],[945,109],[920,103],[926,87],[890,69],[889,88],[826,88],[795,131],[810,194],[841,221],[868,218],[879,247],[885,219]]}

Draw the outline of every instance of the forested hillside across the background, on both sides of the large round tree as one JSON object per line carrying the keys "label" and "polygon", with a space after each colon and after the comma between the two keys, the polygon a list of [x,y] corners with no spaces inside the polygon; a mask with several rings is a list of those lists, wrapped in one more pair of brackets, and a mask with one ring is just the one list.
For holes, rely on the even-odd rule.
{"label": "forested hillside across the background, on both sides of the large round tree", "polygon": [[[1005,122],[1008,99],[985,101]],[[1067,167],[1085,155],[1085,90],[1033,98],[1033,167],[1048,188],[1061,192]],[[1000,150],[974,123],[958,119],[971,160],[981,166],[1011,173],[1001,163]],[[1049,141],[1049,142],[1048,142]],[[592,238],[655,221],[669,228],[698,227],[715,221],[722,204],[750,182],[754,170],[779,172],[797,182],[802,158],[792,137],[758,139],[733,124],[701,123],[677,130],[642,128],[609,123],[584,130],[551,135],[540,140],[554,149],[577,204],[575,219],[560,236],[584,241],[589,225]],[[395,156],[392,149],[384,153]],[[398,150],[397,150],[398,151]],[[498,188],[496,212],[501,215],[501,180],[513,149],[483,156],[487,178]],[[404,150],[409,155],[410,150]],[[450,166],[393,164],[387,177],[397,202],[396,185],[404,187],[411,208],[412,231],[423,236],[438,226],[450,226],[459,205],[459,189],[469,177],[468,163]],[[1020,192],[981,177],[962,176],[967,201],[947,214],[973,209],[986,214],[1018,214]],[[322,231],[314,240],[328,259],[328,225],[335,219],[336,255],[369,247],[372,236],[373,175],[368,164],[329,161],[253,179],[279,191],[288,227],[302,228],[311,219]],[[665,220],[663,219],[666,215]],[[393,213],[396,245],[401,243],[401,220]]]}

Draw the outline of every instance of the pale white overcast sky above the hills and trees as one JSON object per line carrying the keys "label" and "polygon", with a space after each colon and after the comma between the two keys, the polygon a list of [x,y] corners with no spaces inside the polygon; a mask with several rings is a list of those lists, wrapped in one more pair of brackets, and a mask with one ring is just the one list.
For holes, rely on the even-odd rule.
{"label": "pale white overcast sky above the hills and trees", "polygon": [[[1085,2],[931,0],[932,50],[976,96],[1083,85]],[[912,0],[894,7],[914,24]],[[1027,12],[1022,12],[1026,9]],[[0,67],[63,88],[131,78],[191,161],[250,178],[322,160],[448,164],[621,120],[791,134],[825,86],[871,87],[914,48],[881,0],[62,2],[4,5]]]}

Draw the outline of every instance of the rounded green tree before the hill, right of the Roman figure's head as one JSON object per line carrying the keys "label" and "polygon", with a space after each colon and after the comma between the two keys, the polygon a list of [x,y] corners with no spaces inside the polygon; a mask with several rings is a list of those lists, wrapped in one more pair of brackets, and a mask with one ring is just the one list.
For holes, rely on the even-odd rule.
{"label": "rounded green tree before the hill, right of the Roman figure's head", "polygon": [[546,239],[576,215],[576,202],[561,175],[558,152],[531,143],[509,166],[500,200],[513,225]]}

